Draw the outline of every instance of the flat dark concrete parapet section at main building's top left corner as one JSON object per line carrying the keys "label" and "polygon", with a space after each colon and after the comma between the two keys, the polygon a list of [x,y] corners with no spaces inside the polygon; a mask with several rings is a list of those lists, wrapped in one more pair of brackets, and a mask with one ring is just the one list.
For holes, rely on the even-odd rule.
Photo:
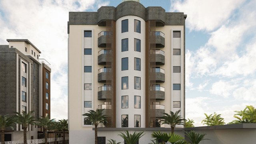
{"label": "flat dark concrete parapet section at main building's top left corner", "polygon": [[97,12],[69,12],[71,25],[97,25]]}

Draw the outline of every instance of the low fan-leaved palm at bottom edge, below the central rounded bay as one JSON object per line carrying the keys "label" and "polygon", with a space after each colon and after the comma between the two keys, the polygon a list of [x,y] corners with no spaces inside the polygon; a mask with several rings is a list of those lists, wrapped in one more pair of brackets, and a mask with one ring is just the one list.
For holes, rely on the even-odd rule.
{"label": "low fan-leaved palm at bottom edge, below the central rounded bay", "polygon": [[128,130],[125,133],[120,132],[118,136],[121,136],[124,139],[125,144],[136,144],[139,139],[144,136],[143,132],[134,132],[133,134],[129,134]]}

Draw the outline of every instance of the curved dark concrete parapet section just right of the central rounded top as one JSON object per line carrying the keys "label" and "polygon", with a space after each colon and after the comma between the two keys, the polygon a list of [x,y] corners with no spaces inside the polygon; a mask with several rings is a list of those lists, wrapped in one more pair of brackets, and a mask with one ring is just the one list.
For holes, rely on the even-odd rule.
{"label": "curved dark concrete parapet section just right of the central rounded top", "polygon": [[146,21],[147,20],[160,20],[165,23],[165,10],[160,6],[150,6],[146,8]]}

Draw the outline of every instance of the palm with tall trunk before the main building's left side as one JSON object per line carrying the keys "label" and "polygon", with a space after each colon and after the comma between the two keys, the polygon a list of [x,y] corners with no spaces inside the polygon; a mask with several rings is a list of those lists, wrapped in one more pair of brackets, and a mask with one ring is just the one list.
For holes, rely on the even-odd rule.
{"label": "palm with tall trunk before the main building's left side", "polygon": [[106,115],[102,114],[103,110],[104,109],[96,109],[96,111],[88,110],[88,113],[83,114],[83,116],[87,116],[95,127],[95,144],[98,144],[98,124],[107,122]]}

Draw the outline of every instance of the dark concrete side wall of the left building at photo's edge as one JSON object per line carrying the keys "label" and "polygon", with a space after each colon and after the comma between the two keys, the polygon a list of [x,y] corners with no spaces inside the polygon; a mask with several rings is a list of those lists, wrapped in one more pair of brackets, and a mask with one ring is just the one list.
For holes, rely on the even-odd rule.
{"label": "dark concrete side wall of the left building at photo's edge", "polygon": [[16,112],[16,53],[0,50],[0,115]]}

